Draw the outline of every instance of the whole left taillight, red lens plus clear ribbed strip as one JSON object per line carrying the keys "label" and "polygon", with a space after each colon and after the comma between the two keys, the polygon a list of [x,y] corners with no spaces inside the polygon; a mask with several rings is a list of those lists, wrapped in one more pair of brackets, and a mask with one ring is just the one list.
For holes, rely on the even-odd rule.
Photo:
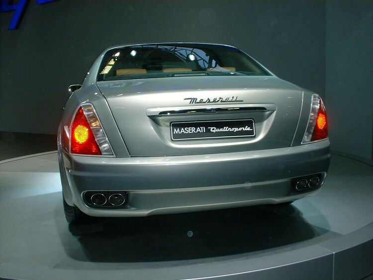
{"label": "whole left taillight, red lens plus clear ribbed strip", "polygon": [[91,104],[82,105],[71,127],[70,152],[81,155],[113,155]]}

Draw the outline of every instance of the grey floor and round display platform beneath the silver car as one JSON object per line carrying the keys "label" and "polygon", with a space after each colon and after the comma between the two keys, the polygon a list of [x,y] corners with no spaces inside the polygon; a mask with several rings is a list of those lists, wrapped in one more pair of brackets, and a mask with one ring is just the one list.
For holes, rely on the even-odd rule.
{"label": "grey floor and round display platform beneath the silver car", "polygon": [[343,156],[333,155],[317,194],[288,207],[69,227],[61,199],[56,152],[0,162],[0,277],[362,279],[373,273],[373,167]]}

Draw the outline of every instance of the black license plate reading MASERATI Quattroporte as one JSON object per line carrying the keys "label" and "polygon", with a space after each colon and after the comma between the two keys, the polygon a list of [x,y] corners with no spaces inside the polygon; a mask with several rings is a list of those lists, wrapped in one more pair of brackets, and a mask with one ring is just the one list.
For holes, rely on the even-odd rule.
{"label": "black license plate reading MASERATI Quattroporte", "polygon": [[255,124],[253,119],[204,120],[171,123],[171,139],[174,141],[254,136]]}

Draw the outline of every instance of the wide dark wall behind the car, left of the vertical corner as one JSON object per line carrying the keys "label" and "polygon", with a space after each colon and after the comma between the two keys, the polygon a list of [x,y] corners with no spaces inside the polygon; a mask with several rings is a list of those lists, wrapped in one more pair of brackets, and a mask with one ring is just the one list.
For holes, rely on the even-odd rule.
{"label": "wide dark wall behind the car, left of the vertical corner", "polygon": [[235,45],[275,74],[325,92],[321,0],[31,0],[17,30],[0,14],[0,131],[56,133],[67,87],[115,44]]}

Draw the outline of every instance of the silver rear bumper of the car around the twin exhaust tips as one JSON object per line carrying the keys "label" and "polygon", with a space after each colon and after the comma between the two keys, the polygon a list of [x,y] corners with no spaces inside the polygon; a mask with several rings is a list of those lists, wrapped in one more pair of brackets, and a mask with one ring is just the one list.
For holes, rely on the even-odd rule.
{"label": "silver rear bumper of the car around the twin exhaust tips", "polygon": [[[291,179],[329,167],[329,140],[296,147],[211,155],[103,158],[63,154],[72,202],[92,216],[146,216],[281,203]],[[86,190],[126,190],[123,209],[95,209]]]}

